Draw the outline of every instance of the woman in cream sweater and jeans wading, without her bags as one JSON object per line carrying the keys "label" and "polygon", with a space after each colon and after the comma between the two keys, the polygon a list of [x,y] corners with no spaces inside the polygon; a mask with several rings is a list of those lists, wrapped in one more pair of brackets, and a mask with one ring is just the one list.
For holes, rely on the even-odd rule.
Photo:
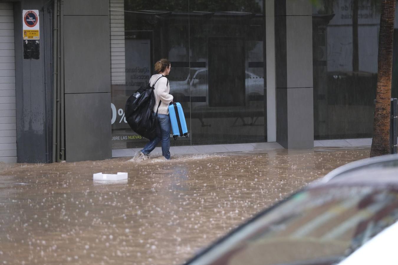
{"label": "woman in cream sweater and jeans wading, without her bags", "polygon": [[[170,116],[169,116],[169,104],[173,102],[173,96],[169,94],[170,85],[166,77],[170,73],[171,64],[167,59],[160,59],[155,63],[155,72],[158,74],[152,75],[149,80],[150,85],[155,84],[155,105],[153,108],[153,115],[158,110],[158,123],[160,128],[160,135],[149,141],[144,148],[139,151],[139,159],[148,159],[150,152],[155,149],[156,145],[162,141],[162,155],[166,160],[170,159]],[[159,102],[161,101],[160,105]],[[158,109],[159,106],[159,109]]]}

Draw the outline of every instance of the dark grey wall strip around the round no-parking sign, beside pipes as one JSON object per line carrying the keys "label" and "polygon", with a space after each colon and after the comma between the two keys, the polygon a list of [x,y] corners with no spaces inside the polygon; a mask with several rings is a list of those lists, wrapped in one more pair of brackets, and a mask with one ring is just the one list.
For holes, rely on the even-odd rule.
{"label": "dark grey wall strip around the round no-parking sign, beside pipes", "polygon": [[[45,0],[22,0],[14,4],[15,17],[15,70],[16,70],[16,131],[18,162],[49,162],[47,119],[51,106],[46,103],[46,94],[51,93],[52,4]],[[40,16],[40,56],[38,60],[23,59],[21,13],[23,9],[38,9]]]}

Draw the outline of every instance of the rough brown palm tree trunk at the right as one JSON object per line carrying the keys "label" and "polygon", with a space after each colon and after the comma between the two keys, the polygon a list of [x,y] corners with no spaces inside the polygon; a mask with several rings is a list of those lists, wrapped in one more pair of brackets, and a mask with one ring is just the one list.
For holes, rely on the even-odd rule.
{"label": "rough brown palm tree trunk at the right", "polygon": [[390,153],[390,98],[395,1],[382,0],[378,39],[376,108],[371,157]]}

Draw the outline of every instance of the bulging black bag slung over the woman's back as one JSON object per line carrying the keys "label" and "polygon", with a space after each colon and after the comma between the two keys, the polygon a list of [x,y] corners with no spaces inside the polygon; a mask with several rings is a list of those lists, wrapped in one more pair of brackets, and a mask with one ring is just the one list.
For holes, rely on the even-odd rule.
{"label": "bulging black bag slung over the woman's back", "polygon": [[150,84],[146,87],[140,87],[127,99],[125,106],[125,117],[131,129],[149,140],[154,139],[156,135],[160,134],[158,119],[153,115],[153,107],[155,105],[155,83],[152,87]]}

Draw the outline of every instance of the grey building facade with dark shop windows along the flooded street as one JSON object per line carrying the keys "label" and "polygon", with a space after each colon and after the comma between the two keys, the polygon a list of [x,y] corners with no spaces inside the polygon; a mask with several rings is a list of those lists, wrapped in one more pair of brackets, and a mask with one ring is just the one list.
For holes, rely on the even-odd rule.
{"label": "grey building facade with dark shop windows along the flooded street", "polygon": [[371,137],[380,1],[355,2],[0,2],[0,161],[143,146],[124,105],[160,58],[189,132],[172,145]]}

